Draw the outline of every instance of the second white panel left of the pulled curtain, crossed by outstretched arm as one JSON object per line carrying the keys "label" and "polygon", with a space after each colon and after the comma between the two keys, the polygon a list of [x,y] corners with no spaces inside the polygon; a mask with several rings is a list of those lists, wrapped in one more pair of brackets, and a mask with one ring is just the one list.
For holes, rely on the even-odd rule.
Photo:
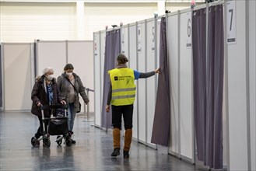
{"label": "second white panel left of the pulled curtain, crossed by outstretched arm", "polygon": [[[146,24],[138,24],[138,71],[146,71]],[[140,30],[140,31],[139,31]],[[139,79],[137,86],[139,105],[139,141],[146,142],[146,79]]]}

